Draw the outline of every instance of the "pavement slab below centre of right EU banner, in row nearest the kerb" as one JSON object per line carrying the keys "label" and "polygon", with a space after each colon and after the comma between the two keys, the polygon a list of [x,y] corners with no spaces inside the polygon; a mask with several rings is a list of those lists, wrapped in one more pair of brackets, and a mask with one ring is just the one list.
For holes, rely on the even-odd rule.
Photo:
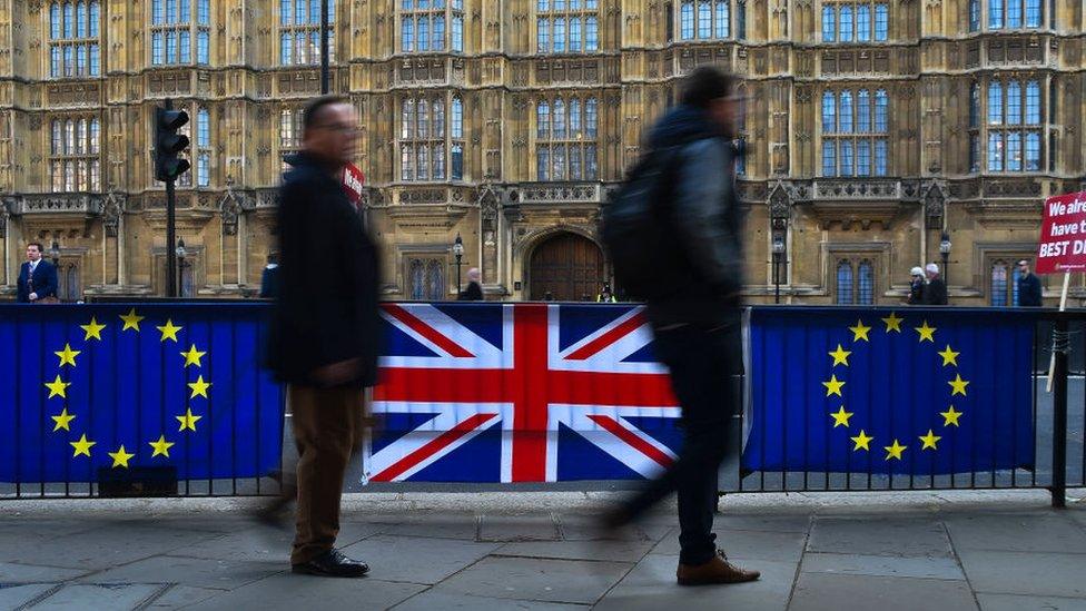
{"label": "pavement slab below centre of right EU banner, in row nearest the kerb", "polygon": [[814,520],[808,552],[866,555],[951,555],[946,530],[927,518],[820,518]]}

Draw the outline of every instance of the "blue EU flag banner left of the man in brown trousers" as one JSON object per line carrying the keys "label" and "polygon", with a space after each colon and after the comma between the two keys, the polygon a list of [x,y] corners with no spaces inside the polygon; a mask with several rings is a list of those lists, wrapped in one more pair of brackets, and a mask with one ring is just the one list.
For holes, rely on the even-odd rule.
{"label": "blue EU flag banner left of the man in brown trousers", "polygon": [[283,395],[259,304],[0,307],[0,482],[181,480],[279,464]]}

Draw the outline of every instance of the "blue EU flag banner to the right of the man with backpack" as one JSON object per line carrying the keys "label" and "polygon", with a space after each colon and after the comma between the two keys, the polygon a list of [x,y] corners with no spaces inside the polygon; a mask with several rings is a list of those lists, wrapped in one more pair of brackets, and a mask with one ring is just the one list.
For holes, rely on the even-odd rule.
{"label": "blue EU flag banner to the right of the man with backpack", "polygon": [[1033,316],[754,308],[746,471],[1031,467]]}

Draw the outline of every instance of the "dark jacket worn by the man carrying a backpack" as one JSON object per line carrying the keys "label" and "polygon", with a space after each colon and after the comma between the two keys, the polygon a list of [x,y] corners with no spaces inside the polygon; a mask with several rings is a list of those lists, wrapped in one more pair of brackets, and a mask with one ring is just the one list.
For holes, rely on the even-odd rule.
{"label": "dark jacket worn by the man carrying a backpack", "polygon": [[679,106],[653,127],[650,148],[679,147],[664,201],[675,239],[678,290],[649,300],[658,326],[721,325],[734,319],[742,278],[742,219],[735,197],[731,141],[698,108]]}

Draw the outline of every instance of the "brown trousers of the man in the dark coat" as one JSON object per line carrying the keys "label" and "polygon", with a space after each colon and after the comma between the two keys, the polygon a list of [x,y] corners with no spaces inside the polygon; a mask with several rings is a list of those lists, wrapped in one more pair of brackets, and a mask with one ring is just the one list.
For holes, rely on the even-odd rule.
{"label": "brown trousers of the man in the dark coat", "polygon": [[339,534],[343,477],[365,433],[365,394],[351,386],[288,392],[298,446],[298,530],[290,562],[300,564],[330,550]]}

